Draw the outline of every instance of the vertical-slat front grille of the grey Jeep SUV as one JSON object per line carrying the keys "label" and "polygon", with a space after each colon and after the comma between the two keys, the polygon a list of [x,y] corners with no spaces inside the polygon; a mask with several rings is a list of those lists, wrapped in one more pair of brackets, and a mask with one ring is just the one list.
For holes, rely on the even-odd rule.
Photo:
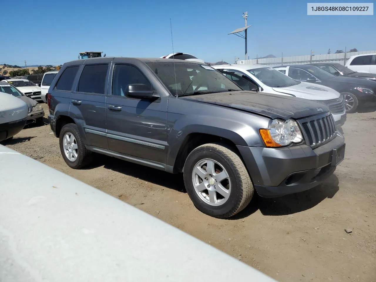
{"label": "vertical-slat front grille of the grey Jeep SUV", "polygon": [[329,112],[298,121],[303,129],[306,143],[311,148],[326,144],[337,136],[337,128],[333,116]]}

